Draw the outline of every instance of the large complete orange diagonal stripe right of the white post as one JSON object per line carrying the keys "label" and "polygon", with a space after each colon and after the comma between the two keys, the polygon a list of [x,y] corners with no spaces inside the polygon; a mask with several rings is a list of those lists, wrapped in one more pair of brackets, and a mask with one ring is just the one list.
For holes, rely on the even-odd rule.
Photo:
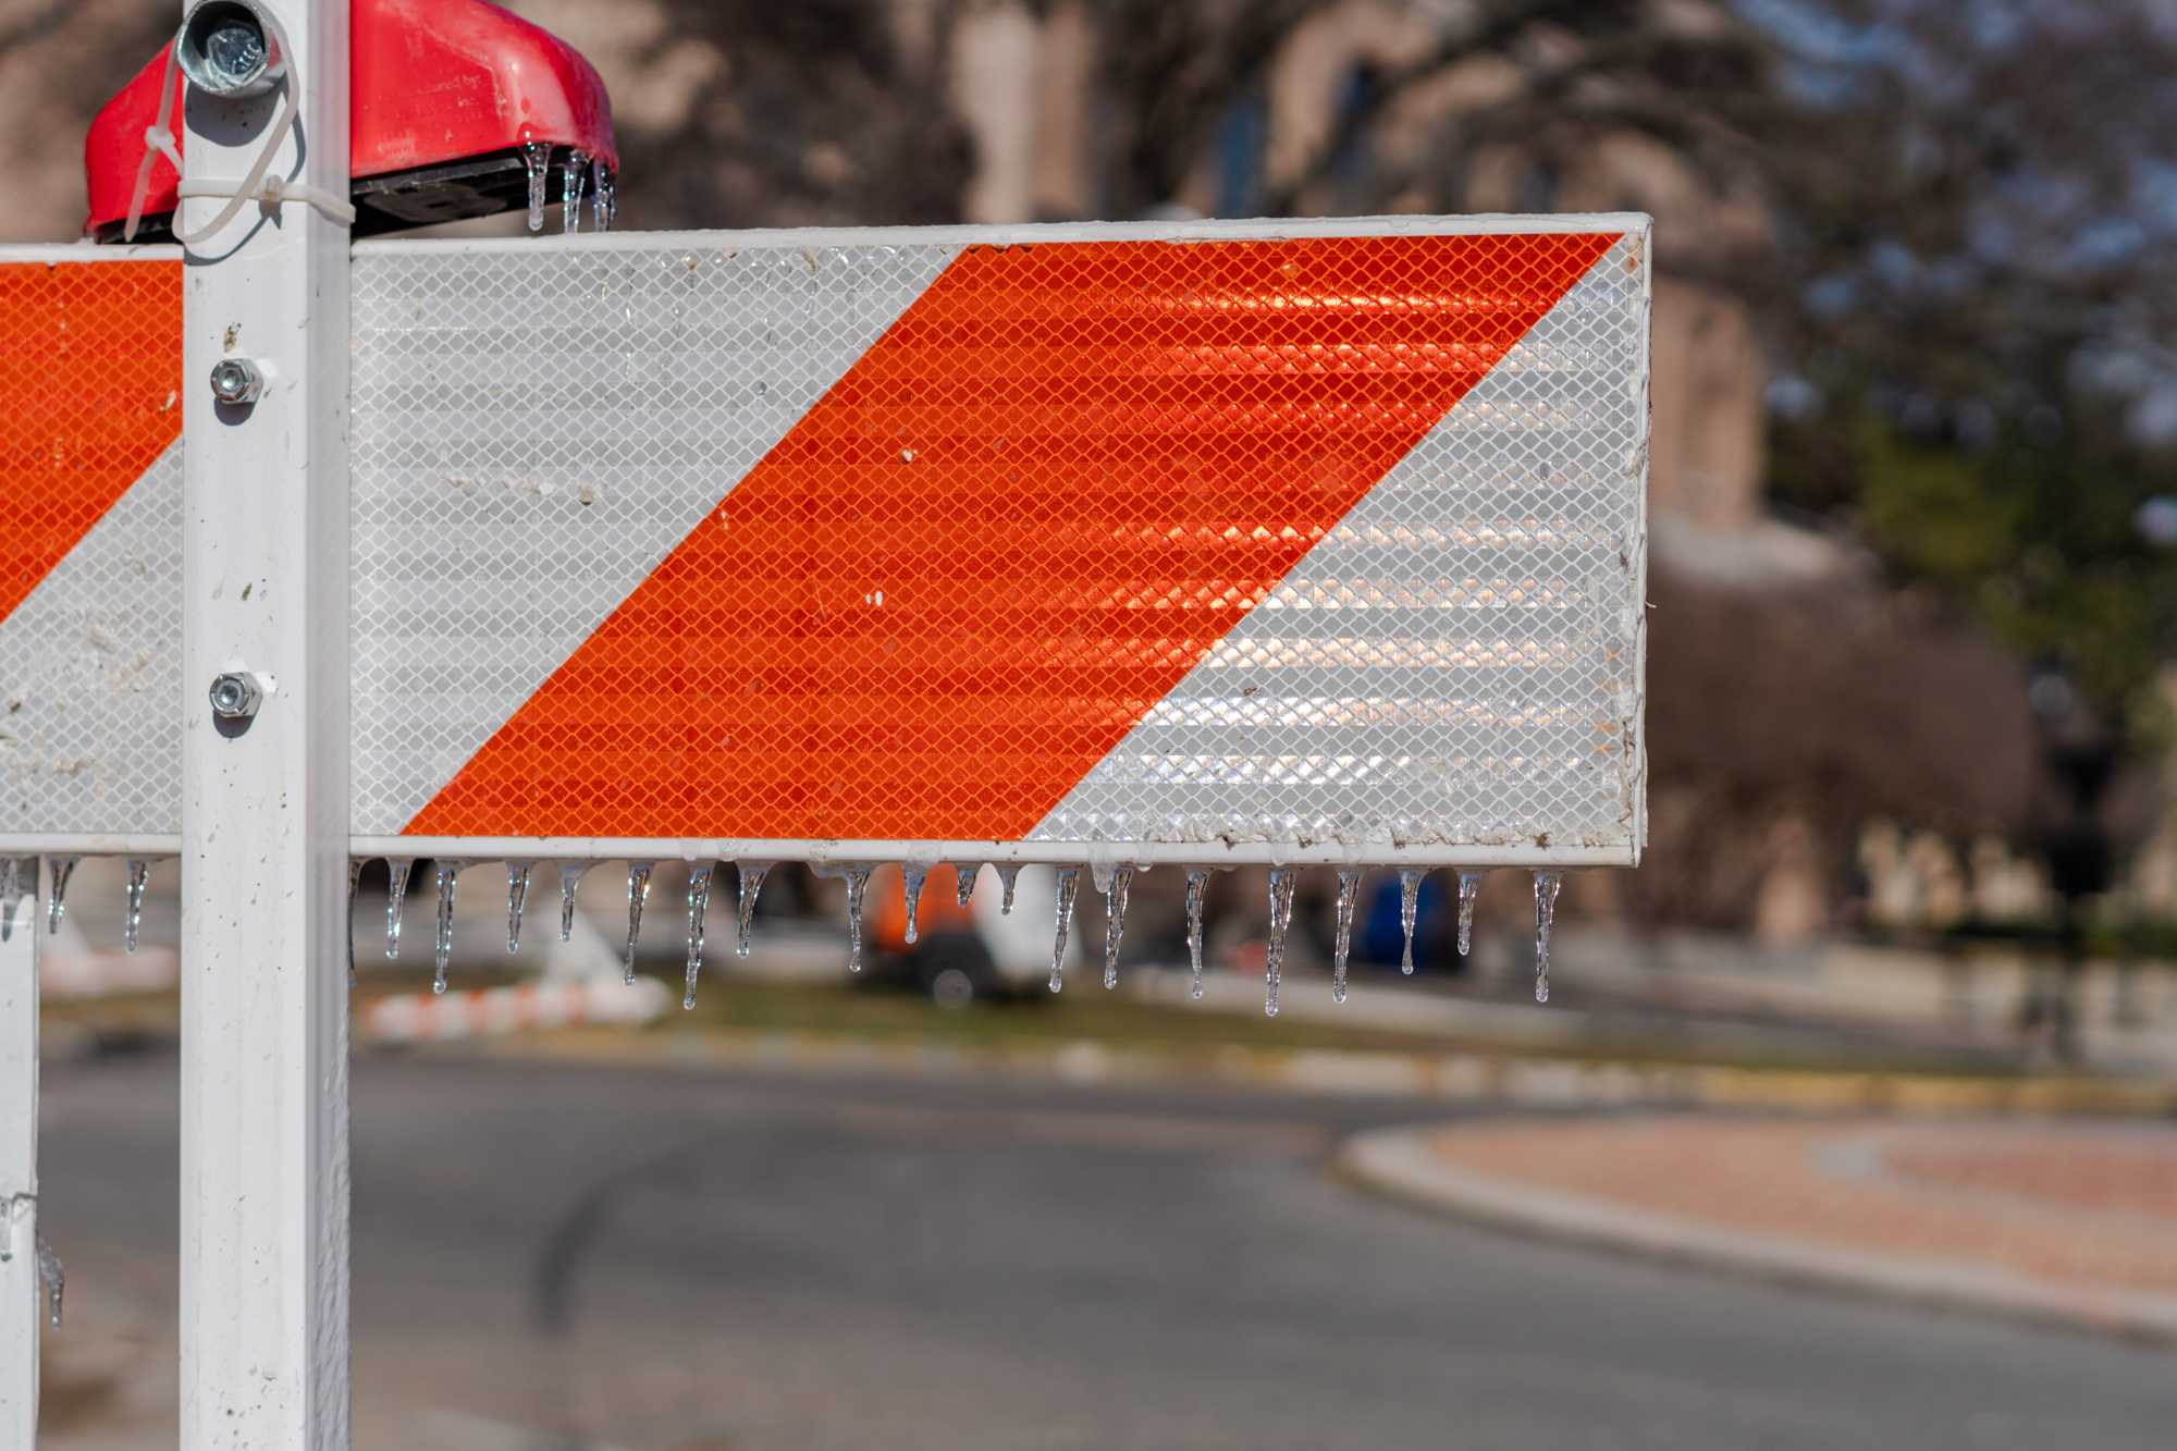
{"label": "large complete orange diagonal stripe right of the white post", "polygon": [[1019,839],[1611,242],[969,248],[407,830]]}

